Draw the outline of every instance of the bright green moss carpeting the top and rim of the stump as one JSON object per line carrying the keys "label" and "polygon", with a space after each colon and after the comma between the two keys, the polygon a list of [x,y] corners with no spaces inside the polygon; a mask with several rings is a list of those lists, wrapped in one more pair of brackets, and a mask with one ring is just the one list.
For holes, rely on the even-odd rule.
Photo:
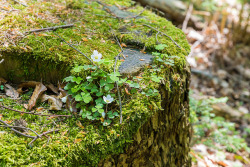
{"label": "bright green moss carpeting the top and rim of the stump", "polygon": [[[13,71],[9,71],[12,71],[12,74],[8,73],[6,76],[12,75],[11,77],[14,79],[18,74],[19,78],[40,81],[40,78],[36,77],[46,75],[38,75],[41,72],[58,70],[63,72],[61,75],[63,78],[75,64],[90,63],[84,56],[63,43],[53,32],[30,33],[23,36],[26,31],[73,22],[75,25],[73,28],[58,29],[56,32],[66,41],[75,44],[74,46],[88,57],[93,50],[98,50],[105,59],[113,61],[120,48],[115,42],[112,42],[115,40],[107,23],[111,25],[114,33],[122,42],[126,44],[139,42],[139,49],[145,46],[146,51],[151,52],[154,51],[154,46],[157,44],[156,32],[143,25],[147,24],[171,36],[181,46],[178,48],[169,38],[158,35],[158,42],[168,46],[163,53],[180,57],[176,59],[174,67],[166,67],[160,73],[161,77],[165,78],[165,87],[173,92],[180,87],[179,78],[182,77],[181,74],[186,64],[186,51],[189,52],[190,47],[185,39],[185,34],[166,19],[150,11],[144,11],[141,14],[142,17],[138,19],[118,20],[104,17],[109,14],[103,11],[102,6],[96,2],[86,3],[77,0],[57,1],[56,3],[31,0],[26,2],[29,7],[11,2],[13,7],[19,11],[6,14],[4,19],[0,20],[0,52],[4,56],[20,60],[21,71],[23,71],[19,74],[13,69]],[[132,4],[130,0],[105,0],[103,2],[127,7]],[[136,6],[129,11],[139,13],[142,9],[142,7]],[[120,32],[120,29],[124,27],[127,33]],[[10,30],[12,30],[11,37],[13,38],[7,39],[4,35]],[[34,62],[39,63],[33,64]],[[113,70],[112,66],[103,68],[108,71]],[[0,68],[1,70],[3,69]],[[142,87],[146,85],[147,89],[159,90],[159,84],[149,82],[150,72],[150,69],[145,69],[143,79],[138,82]],[[175,73],[176,75],[173,76]],[[175,78],[176,81],[172,83]],[[30,139],[17,136],[8,130],[7,133],[0,134],[0,166],[30,166],[31,164],[36,166],[96,166],[101,159],[122,153],[124,148],[133,142],[133,135],[140,125],[146,122],[154,112],[161,109],[161,97],[160,95],[147,97],[140,93],[128,96],[124,89],[121,91],[123,124],[120,125],[119,120],[116,119],[111,126],[103,127],[99,122],[89,122],[80,118],[68,119],[59,123],[60,132],[49,135],[51,137],[49,144],[47,144],[46,138],[42,138],[37,140],[33,147],[28,146]],[[3,104],[23,109],[8,99],[4,99]],[[42,125],[51,122],[51,120],[38,116],[20,116],[20,114],[8,110],[0,110],[0,113],[3,114],[2,119],[5,121],[22,117],[29,123],[30,128],[37,130]],[[57,114],[65,114],[65,112]],[[78,127],[76,121],[81,121],[84,128]],[[43,131],[50,128],[52,126],[45,127]],[[6,131],[6,129],[0,128],[0,131]]]}

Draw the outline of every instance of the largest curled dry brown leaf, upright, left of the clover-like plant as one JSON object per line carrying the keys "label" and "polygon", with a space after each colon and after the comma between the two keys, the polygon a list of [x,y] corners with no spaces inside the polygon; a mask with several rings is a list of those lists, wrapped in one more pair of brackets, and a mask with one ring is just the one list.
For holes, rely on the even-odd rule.
{"label": "largest curled dry brown leaf, upright, left of the clover-like plant", "polygon": [[43,92],[45,92],[47,90],[47,88],[41,83],[38,82],[38,84],[36,85],[36,88],[31,96],[31,99],[29,100],[29,104],[28,104],[28,110],[31,110],[35,105],[36,105],[36,101],[37,99],[43,94]]}

